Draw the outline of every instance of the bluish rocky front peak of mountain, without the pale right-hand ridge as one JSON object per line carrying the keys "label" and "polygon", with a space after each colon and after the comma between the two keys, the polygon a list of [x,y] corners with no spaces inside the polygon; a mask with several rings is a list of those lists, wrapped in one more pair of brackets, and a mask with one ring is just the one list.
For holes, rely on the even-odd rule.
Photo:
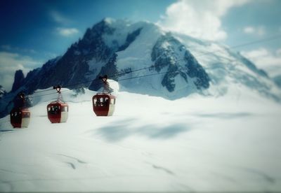
{"label": "bluish rocky front peak of mountain, without the pale right-hand ridge", "polygon": [[[149,78],[142,84],[143,88],[154,90],[150,94],[162,95],[159,91],[164,90],[167,93],[174,92],[176,96],[176,86],[179,84],[187,87],[187,93],[209,87],[207,73],[174,36],[165,34],[152,23],[131,24],[108,18],[87,29],[84,37],[72,44],[63,57],[51,59],[42,68],[30,71],[23,81],[22,78],[15,79],[21,85],[14,84],[17,85],[16,88],[25,87],[29,92],[58,84],[70,85],[71,89],[89,87],[91,90],[98,90],[100,85],[89,80],[105,74],[113,76],[150,66],[150,69],[129,74],[140,76],[161,72],[162,76]],[[163,73],[164,71],[171,72]],[[119,78],[123,77],[113,77],[114,80]],[[139,88],[136,88],[138,82],[143,82],[143,79],[121,85],[139,92]]]}

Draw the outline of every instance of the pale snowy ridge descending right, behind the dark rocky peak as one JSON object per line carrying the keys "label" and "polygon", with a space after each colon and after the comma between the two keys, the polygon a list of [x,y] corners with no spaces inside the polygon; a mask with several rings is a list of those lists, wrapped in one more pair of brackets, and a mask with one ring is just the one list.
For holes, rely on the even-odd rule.
{"label": "pale snowy ridge descending right, behind the dark rocky peak", "polygon": [[192,52],[207,71],[211,79],[211,87],[207,90],[209,94],[223,96],[228,92],[230,85],[243,85],[256,94],[280,101],[281,90],[273,80],[239,52],[233,52],[228,46],[212,41],[202,42],[182,34],[174,36]]}

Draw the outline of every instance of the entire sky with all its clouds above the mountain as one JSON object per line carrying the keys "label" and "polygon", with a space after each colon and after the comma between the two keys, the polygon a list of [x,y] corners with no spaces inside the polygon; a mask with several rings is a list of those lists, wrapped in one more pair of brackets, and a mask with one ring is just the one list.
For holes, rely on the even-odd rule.
{"label": "entire sky with all its clouds above the mountain", "polygon": [[[104,17],[148,20],[232,46],[280,35],[280,15],[278,0],[1,0],[0,85],[10,90],[16,69],[27,73],[63,55]],[[281,62],[281,38],[237,50],[257,63],[266,58],[261,67]]]}

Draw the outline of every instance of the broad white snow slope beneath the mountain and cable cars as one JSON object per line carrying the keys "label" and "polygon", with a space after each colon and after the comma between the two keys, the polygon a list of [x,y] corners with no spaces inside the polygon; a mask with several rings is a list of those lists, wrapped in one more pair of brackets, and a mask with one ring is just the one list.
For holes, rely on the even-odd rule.
{"label": "broad white snow slope beneath the mountain and cable cars", "polygon": [[281,190],[280,104],[247,87],[174,101],[118,92],[112,117],[94,115],[93,94],[63,92],[63,124],[46,117],[55,94],[34,97],[27,129],[0,120],[0,192]]}

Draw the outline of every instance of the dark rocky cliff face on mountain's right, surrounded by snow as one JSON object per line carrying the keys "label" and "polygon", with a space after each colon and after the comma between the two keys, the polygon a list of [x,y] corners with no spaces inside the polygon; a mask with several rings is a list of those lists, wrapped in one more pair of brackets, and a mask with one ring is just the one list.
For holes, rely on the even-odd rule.
{"label": "dark rocky cliff face on mountain's right, surrounded by snow", "polygon": [[209,87],[209,76],[195,57],[171,34],[160,36],[155,43],[152,53],[152,62],[155,62],[157,72],[166,69],[162,79],[162,86],[169,92],[174,92],[176,76],[181,76],[185,83],[194,84],[198,90]]}

